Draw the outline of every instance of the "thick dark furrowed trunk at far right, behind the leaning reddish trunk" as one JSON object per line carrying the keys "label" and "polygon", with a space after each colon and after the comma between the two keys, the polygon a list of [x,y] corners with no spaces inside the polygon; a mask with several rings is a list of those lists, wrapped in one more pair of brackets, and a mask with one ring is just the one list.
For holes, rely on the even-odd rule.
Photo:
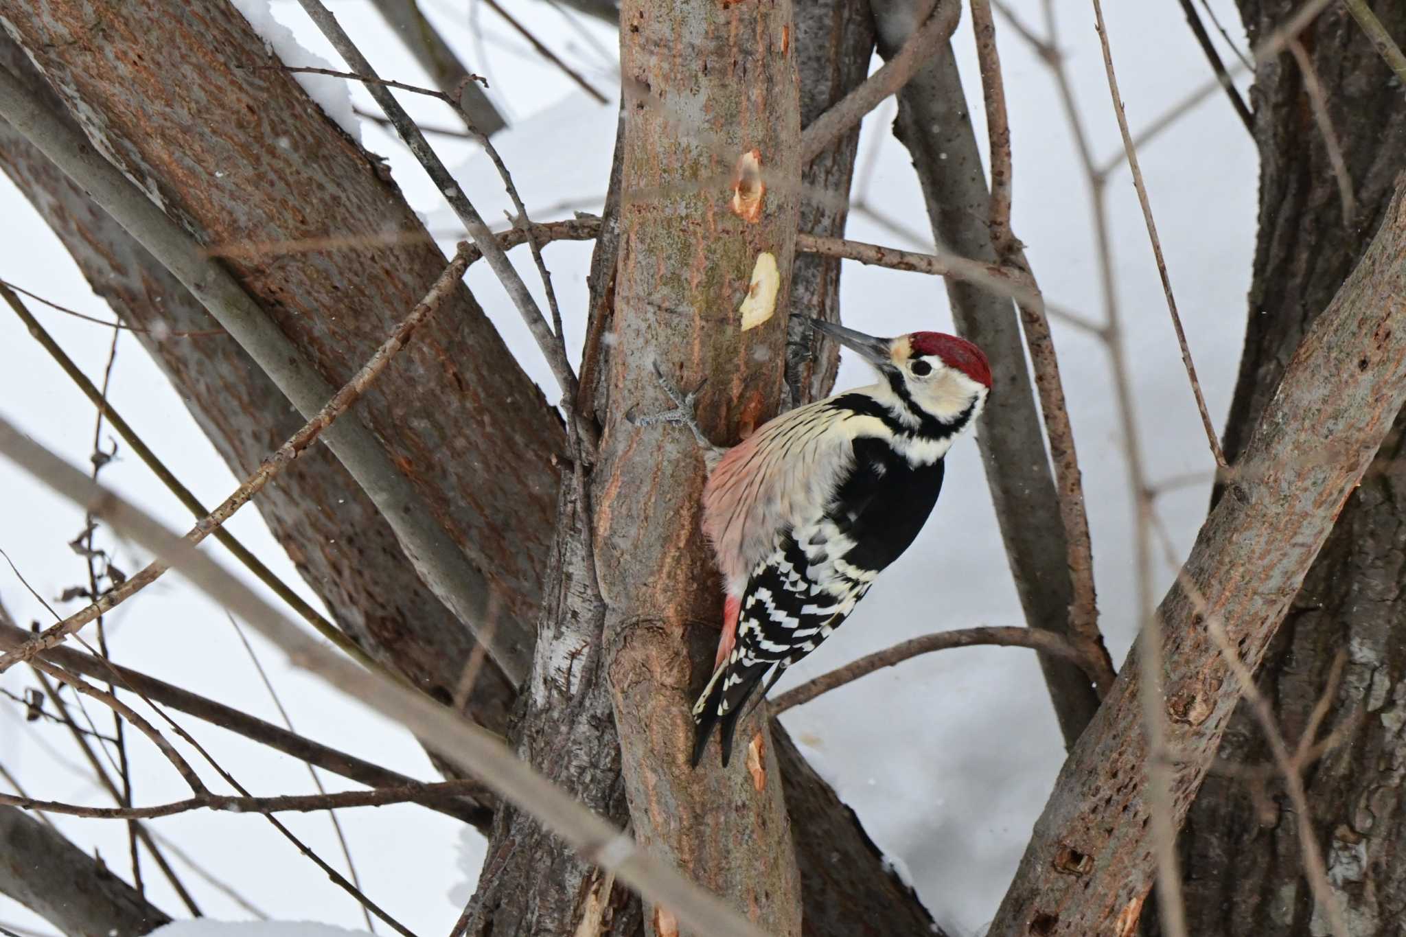
{"label": "thick dark furrowed trunk at far right, behind the leaning reddish trunk", "polygon": [[[1406,37],[1406,7],[1378,3],[1388,31]],[[1240,4],[1251,39],[1295,8],[1289,0]],[[1400,87],[1346,13],[1330,8],[1305,34],[1327,91],[1329,112],[1351,173],[1358,216],[1341,204],[1294,59],[1258,69],[1251,101],[1260,148],[1260,233],[1240,381],[1225,448],[1246,448],[1279,375],[1319,310],[1358,261],[1406,170],[1406,107]],[[1353,937],[1395,937],[1406,919],[1406,421],[1388,441],[1339,517],[1260,669],[1261,691],[1285,733],[1302,735],[1327,688],[1333,659],[1347,669],[1326,725],[1351,725],[1343,745],[1306,778],[1329,882]],[[1263,733],[1244,707],[1232,716],[1220,757],[1265,761]],[[1292,808],[1275,784],[1261,813],[1243,782],[1211,777],[1181,837],[1191,933],[1323,934],[1303,865]]]}

